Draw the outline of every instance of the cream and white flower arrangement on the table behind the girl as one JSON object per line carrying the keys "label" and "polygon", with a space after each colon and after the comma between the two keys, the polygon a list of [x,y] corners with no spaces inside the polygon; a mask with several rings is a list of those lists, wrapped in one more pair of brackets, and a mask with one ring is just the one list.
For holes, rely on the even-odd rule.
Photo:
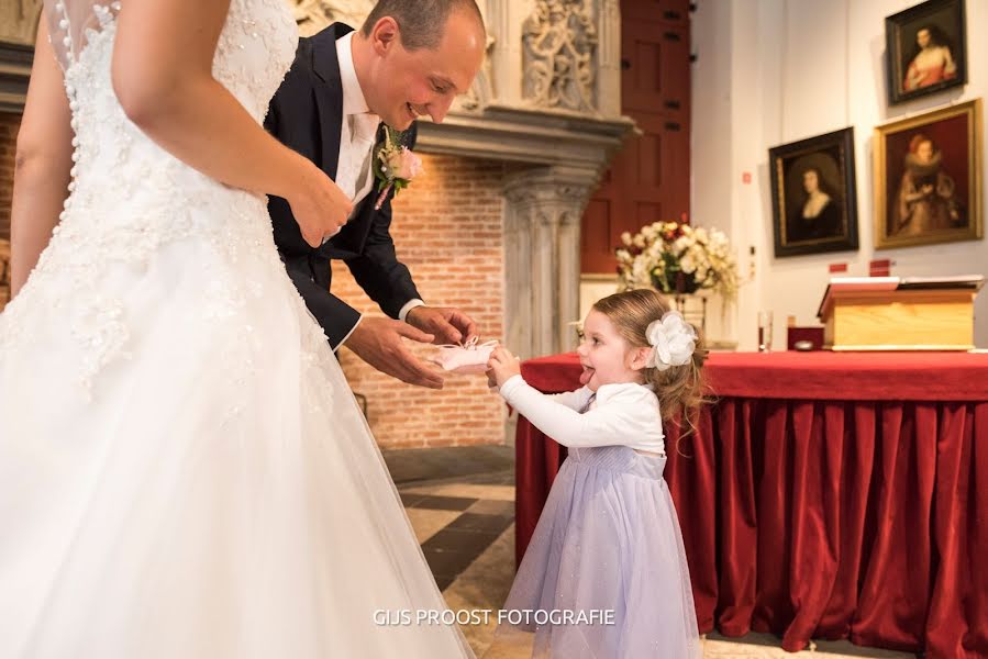
{"label": "cream and white flower arrangement on the table behind the girl", "polygon": [[617,256],[622,290],[654,288],[675,295],[710,289],[728,300],[737,293],[737,264],[723,232],[655,222],[634,235],[624,232],[621,242]]}

